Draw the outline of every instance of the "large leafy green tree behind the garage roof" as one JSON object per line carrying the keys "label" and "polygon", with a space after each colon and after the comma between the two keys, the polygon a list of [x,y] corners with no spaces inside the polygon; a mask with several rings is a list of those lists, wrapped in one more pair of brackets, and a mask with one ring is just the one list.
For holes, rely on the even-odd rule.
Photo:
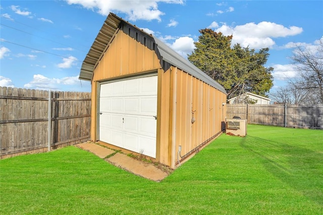
{"label": "large leafy green tree behind the garage roof", "polygon": [[261,96],[273,86],[271,71],[273,67],[264,67],[269,56],[268,48],[243,48],[235,44],[231,48],[231,36],[224,36],[211,29],[199,31],[195,49],[188,55],[188,60],[209,77],[221,84],[233,98],[242,92],[250,92]]}

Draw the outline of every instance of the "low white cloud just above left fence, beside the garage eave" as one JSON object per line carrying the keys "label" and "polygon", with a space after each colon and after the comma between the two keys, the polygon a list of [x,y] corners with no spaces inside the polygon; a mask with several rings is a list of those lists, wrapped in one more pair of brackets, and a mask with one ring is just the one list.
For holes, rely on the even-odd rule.
{"label": "low white cloud just above left fence, beside the garage eave", "polygon": [[37,90],[59,90],[62,85],[77,85],[80,83],[79,76],[65,77],[62,79],[47,78],[43,75],[34,75],[33,80],[24,85],[24,88],[32,88]]}

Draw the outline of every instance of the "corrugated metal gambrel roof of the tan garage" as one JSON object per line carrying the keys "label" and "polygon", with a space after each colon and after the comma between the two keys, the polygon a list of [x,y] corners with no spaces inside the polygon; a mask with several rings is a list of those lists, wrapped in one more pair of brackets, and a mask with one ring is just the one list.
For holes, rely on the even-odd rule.
{"label": "corrugated metal gambrel roof of the tan garage", "polygon": [[[116,33],[117,29],[119,28],[121,22],[125,22],[128,25],[131,25],[129,22],[117,17],[115,14],[110,13],[107,16],[106,20],[103,23],[101,30],[99,31],[88,54],[86,55],[86,57],[83,61],[79,79],[91,81],[92,75],[93,75],[93,70],[94,70],[97,62],[100,60],[100,57],[102,56],[105,49],[107,48],[107,44],[109,44],[111,38],[113,38],[113,36]],[[133,25],[131,25],[131,26],[133,26]],[[143,32],[142,30],[140,30],[136,26],[133,26],[133,27],[138,29],[139,31]],[[182,57],[176,51],[171,49],[165,43],[161,42],[159,39],[157,39],[153,35],[149,35],[145,32],[143,32],[143,33],[149,37],[151,37],[151,36],[153,37],[155,44],[157,44],[157,49],[159,51],[159,54],[163,58],[161,60],[164,60],[164,61],[172,64],[173,66],[176,66],[176,67],[184,70],[186,73],[192,75],[193,77],[205,82],[206,84],[220,90],[223,93],[226,93],[226,90],[218,82],[211,79],[209,76],[207,76],[205,73],[203,73],[203,71],[201,71],[199,68],[197,68],[191,62],[189,62],[187,59]]]}

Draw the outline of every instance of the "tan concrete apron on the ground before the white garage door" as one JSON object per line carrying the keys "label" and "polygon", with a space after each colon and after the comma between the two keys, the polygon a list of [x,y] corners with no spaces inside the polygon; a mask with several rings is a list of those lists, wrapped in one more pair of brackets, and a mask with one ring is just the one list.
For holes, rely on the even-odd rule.
{"label": "tan concrete apron on the ground before the white garage door", "polygon": [[168,176],[166,172],[160,170],[153,164],[144,163],[122,153],[116,153],[111,149],[107,149],[100,145],[94,144],[93,142],[84,142],[75,146],[85,151],[91,152],[102,159],[115,153],[115,155],[104,160],[116,167],[124,169],[135,175],[147,178],[149,180],[159,182]]}

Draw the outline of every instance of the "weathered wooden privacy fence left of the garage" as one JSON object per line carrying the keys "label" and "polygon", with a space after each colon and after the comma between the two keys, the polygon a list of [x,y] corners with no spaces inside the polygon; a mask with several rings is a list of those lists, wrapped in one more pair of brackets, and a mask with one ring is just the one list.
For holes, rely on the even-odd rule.
{"label": "weathered wooden privacy fence left of the garage", "polygon": [[90,113],[90,93],[0,87],[0,156],[45,152],[86,141]]}

